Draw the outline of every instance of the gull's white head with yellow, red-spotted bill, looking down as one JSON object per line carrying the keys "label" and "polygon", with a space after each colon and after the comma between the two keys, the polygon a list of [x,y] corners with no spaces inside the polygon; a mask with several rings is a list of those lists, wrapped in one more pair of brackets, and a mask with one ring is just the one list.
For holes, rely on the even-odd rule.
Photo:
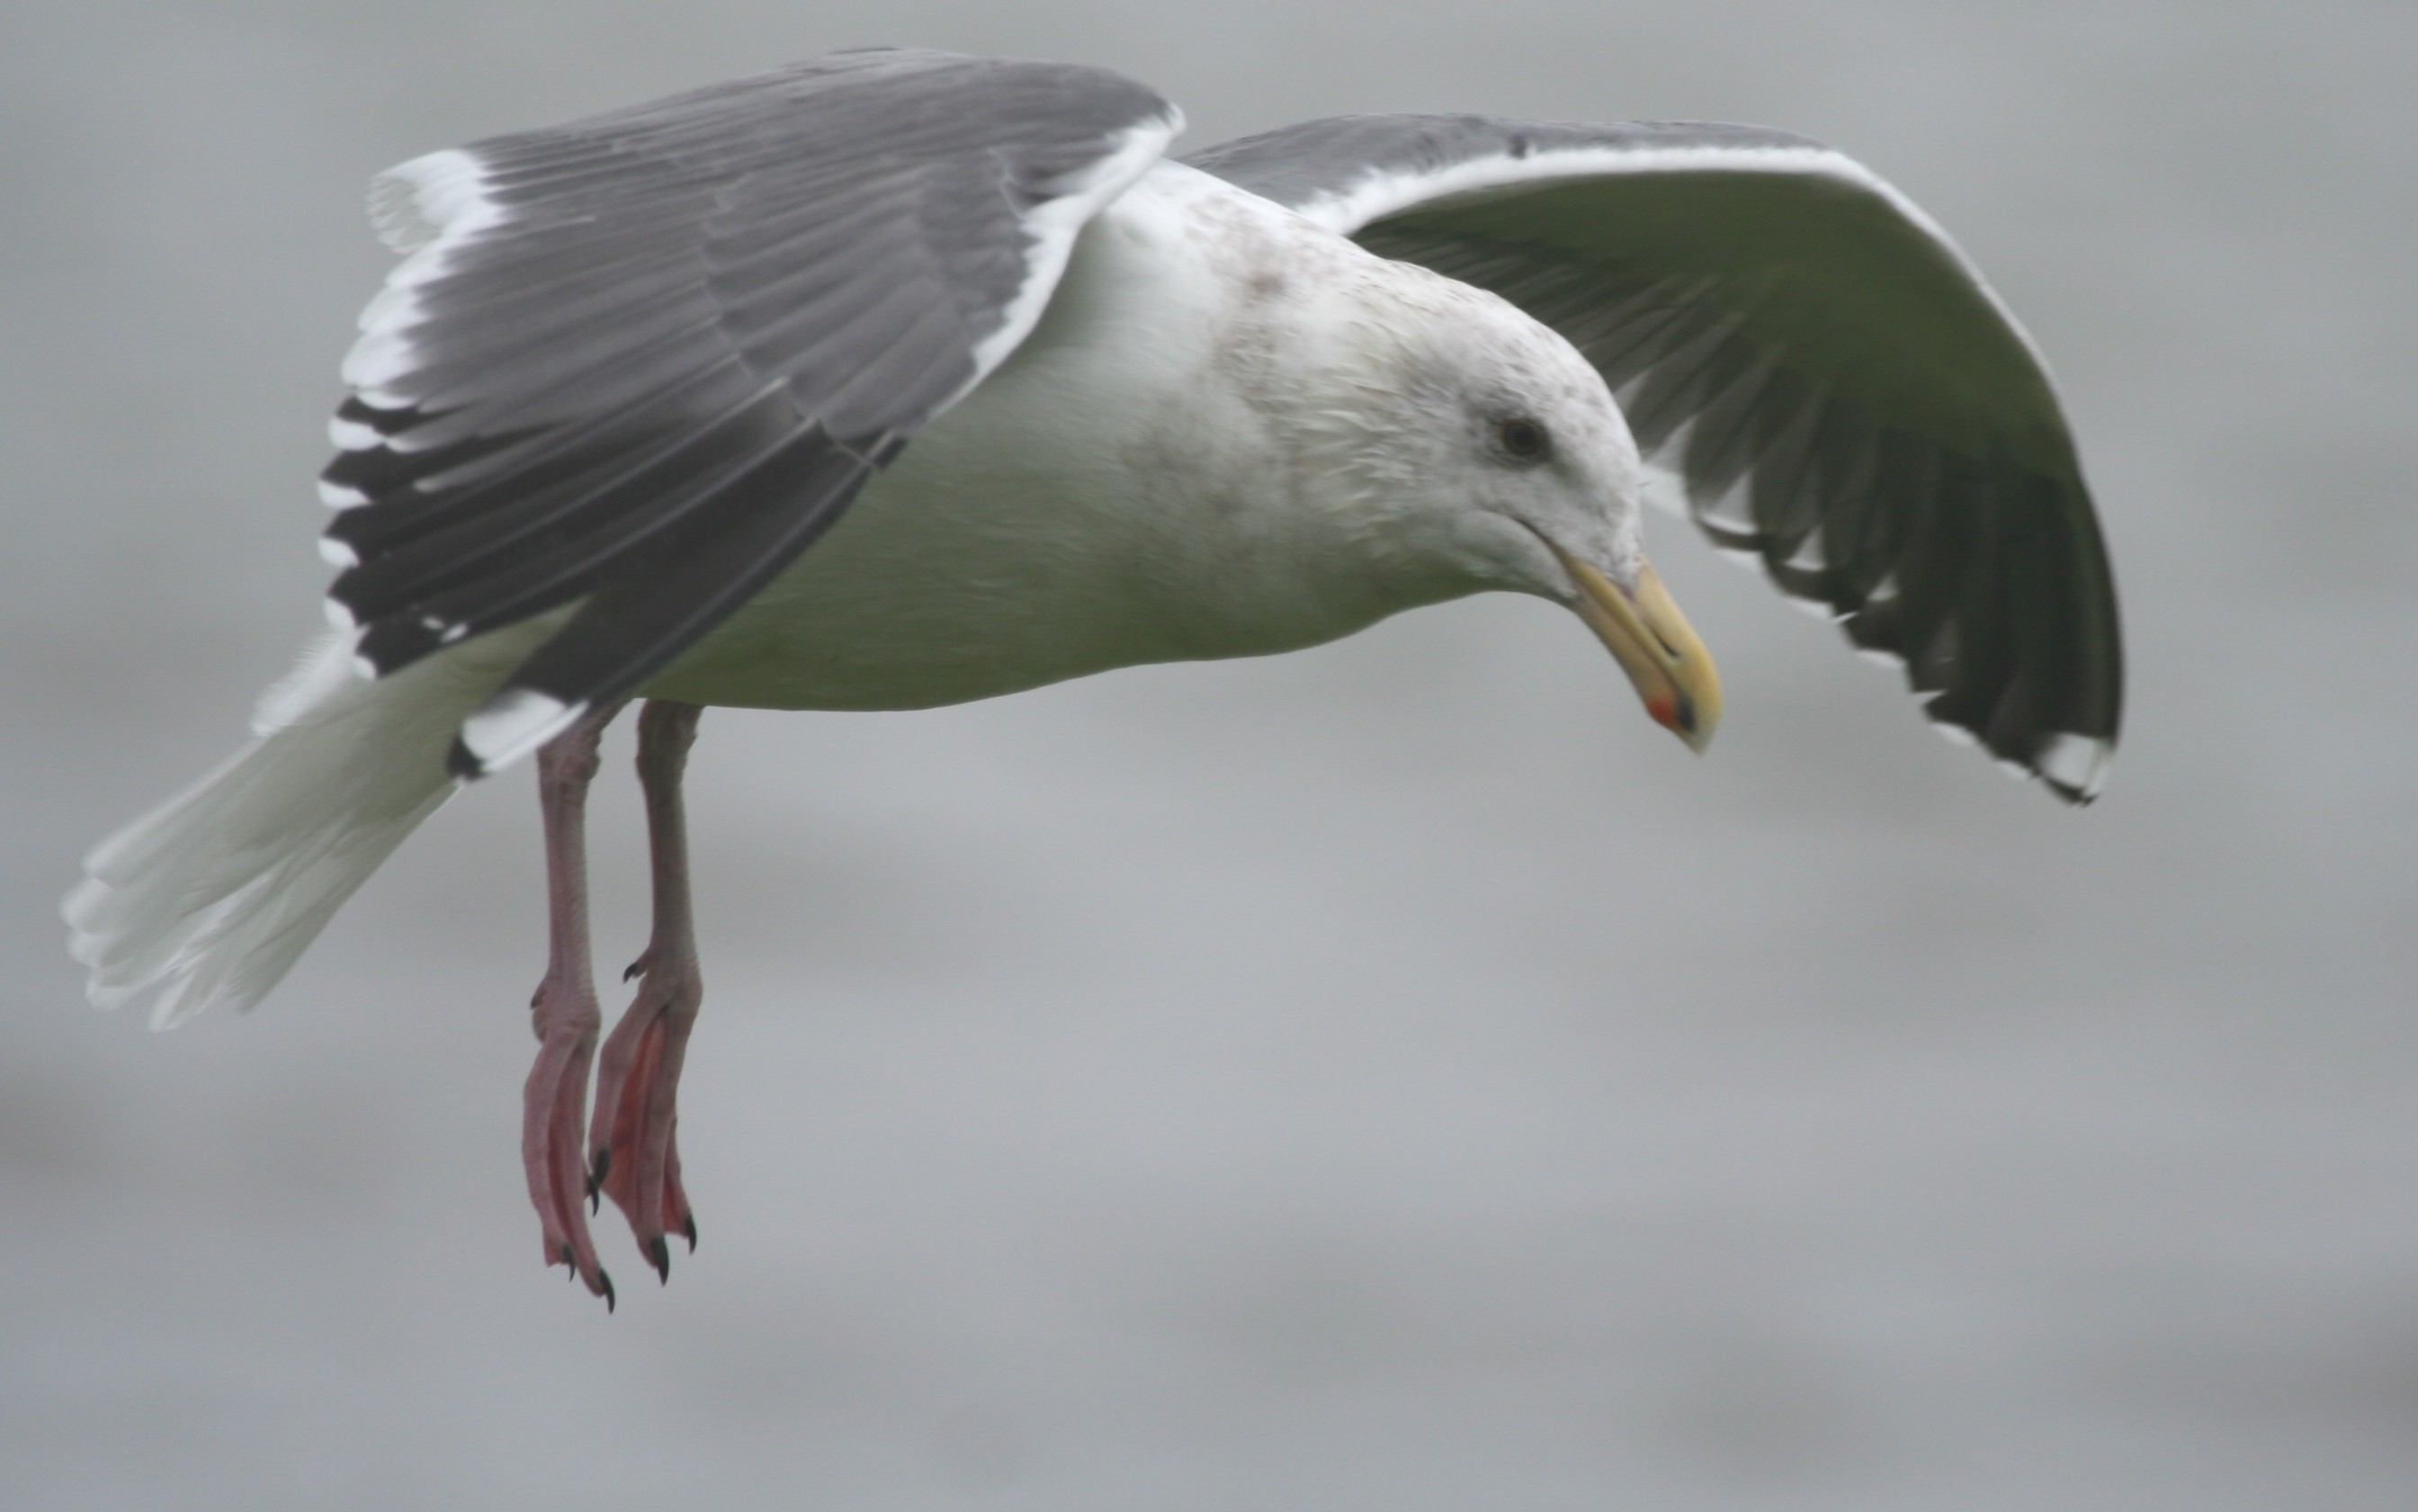
{"label": "gull's white head with yellow, red-spotted bill, looking down", "polygon": [[1644,464],[1596,368],[1468,283],[1381,264],[1337,329],[1344,392],[1315,411],[1371,549],[1460,590],[1550,598],[1647,714],[1705,750],[1722,680],[1644,556]]}

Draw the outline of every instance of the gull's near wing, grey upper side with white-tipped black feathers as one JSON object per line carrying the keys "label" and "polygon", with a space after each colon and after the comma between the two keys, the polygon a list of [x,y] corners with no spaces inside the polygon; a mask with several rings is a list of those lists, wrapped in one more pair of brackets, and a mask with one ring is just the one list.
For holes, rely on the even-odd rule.
{"label": "gull's near wing, grey upper side with white-tipped black feathers", "polygon": [[837,53],[392,169],[331,605],[375,675],[578,605],[488,772],[667,665],[1040,319],[1175,109],[1095,68]]}

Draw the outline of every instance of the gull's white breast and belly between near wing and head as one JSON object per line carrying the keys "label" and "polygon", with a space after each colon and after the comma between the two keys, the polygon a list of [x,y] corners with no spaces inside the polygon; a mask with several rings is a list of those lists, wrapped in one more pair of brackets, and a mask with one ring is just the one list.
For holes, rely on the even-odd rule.
{"label": "gull's white breast and belly between near wing and head", "polygon": [[921,709],[1289,651],[1465,590],[1388,581],[1298,486],[1286,375],[1320,322],[1282,305],[1303,259],[1386,269],[1161,165],[1086,227],[1023,348],[646,692]]}

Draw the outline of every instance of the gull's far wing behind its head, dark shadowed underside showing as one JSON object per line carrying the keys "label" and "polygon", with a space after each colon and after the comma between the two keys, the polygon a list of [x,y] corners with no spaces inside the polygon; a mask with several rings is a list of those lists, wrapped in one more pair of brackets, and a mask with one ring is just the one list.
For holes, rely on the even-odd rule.
{"label": "gull's far wing behind its head, dark shadowed underside showing", "polygon": [[1555,327],[1712,539],[2072,801],[2116,588],[2031,339],[1905,196],[1755,126],[1337,116],[1187,157]]}

